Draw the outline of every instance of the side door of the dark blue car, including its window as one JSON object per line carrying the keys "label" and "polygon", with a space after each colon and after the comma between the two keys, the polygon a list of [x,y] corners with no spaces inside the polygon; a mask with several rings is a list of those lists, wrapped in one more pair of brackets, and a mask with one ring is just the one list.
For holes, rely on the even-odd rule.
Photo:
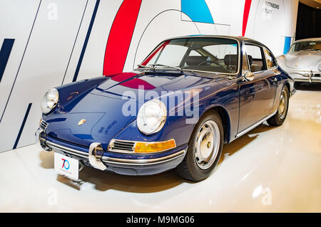
{"label": "side door of the dark blue car, including its window", "polygon": [[267,63],[263,47],[254,43],[243,45],[243,75],[247,70],[253,73],[253,80],[246,80],[244,76],[240,77],[240,115],[238,124],[238,133],[248,129],[256,122],[266,117],[275,97],[275,88],[272,81],[272,74],[267,70]]}

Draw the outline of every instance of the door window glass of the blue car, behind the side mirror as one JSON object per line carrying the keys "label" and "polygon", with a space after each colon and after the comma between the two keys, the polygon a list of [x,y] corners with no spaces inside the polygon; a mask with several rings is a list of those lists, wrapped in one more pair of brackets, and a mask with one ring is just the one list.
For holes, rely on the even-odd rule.
{"label": "door window glass of the blue car, behind the side mirror", "polygon": [[251,72],[266,70],[262,48],[249,44],[245,45],[245,47]]}

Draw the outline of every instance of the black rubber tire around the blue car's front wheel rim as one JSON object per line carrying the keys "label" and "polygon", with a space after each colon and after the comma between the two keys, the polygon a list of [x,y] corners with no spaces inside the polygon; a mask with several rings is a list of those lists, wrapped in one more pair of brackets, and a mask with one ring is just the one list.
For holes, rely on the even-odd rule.
{"label": "black rubber tire around the blue car's front wheel rim", "polygon": [[[200,164],[198,164],[196,161],[198,157],[196,157],[197,154],[195,154],[195,141],[198,139],[197,135],[199,134],[201,127],[205,127],[207,122],[215,122],[215,124],[218,126],[218,130],[216,131],[219,131],[220,137],[213,137],[213,146],[215,146],[215,139],[217,142],[219,141],[219,144],[215,146],[215,149],[213,149],[217,152],[213,151],[212,153],[210,153],[212,154],[212,156],[213,154],[215,154],[215,156],[211,158],[212,160],[210,161],[212,164],[210,164],[210,166],[207,169],[201,169],[199,167]],[[220,115],[218,115],[218,112],[214,110],[209,110],[208,112],[205,112],[205,114],[202,117],[200,117],[200,120],[198,120],[198,123],[195,125],[193,133],[190,136],[190,141],[188,142],[188,151],[183,159],[183,162],[181,162],[178,165],[178,167],[176,167],[176,171],[178,172],[178,174],[181,177],[183,177],[183,179],[195,182],[202,181],[203,179],[206,179],[208,176],[210,176],[216,164],[218,164],[220,154],[222,153],[223,135],[223,123],[220,119]]]}

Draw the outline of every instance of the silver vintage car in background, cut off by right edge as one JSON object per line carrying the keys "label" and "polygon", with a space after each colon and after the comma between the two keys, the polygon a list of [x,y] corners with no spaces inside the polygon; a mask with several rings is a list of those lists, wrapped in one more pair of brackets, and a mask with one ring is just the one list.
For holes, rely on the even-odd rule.
{"label": "silver vintage car in background, cut off by right edge", "polygon": [[292,43],[277,63],[296,82],[321,83],[321,38],[306,38]]}

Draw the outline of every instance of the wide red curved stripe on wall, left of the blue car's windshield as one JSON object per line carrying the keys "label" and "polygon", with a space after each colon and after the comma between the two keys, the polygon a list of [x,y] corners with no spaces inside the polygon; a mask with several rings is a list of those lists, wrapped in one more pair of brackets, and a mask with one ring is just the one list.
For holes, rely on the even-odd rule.
{"label": "wide red curved stripe on wall, left of the blue car's windshield", "polygon": [[141,0],[124,0],[118,9],[106,45],[103,75],[123,72]]}

